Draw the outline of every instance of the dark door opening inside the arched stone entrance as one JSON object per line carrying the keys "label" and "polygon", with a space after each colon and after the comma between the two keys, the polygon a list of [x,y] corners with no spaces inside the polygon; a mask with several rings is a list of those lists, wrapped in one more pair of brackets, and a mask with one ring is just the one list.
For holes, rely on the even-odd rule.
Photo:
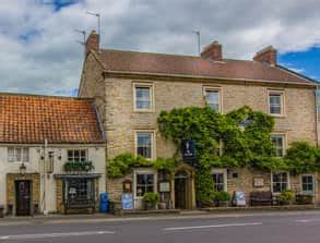
{"label": "dark door opening inside the arched stone entrance", "polygon": [[183,170],[175,174],[175,208],[187,209],[188,173]]}

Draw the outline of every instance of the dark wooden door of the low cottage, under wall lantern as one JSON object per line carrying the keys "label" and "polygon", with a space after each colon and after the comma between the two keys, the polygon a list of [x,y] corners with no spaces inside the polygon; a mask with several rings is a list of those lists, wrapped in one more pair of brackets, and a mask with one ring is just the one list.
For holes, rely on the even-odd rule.
{"label": "dark wooden door of the low cottage, under wall lantern", "polygon": [[31,215],[31,182],[16,181],[15,182],[15,197],[16,197],[16,215]]}

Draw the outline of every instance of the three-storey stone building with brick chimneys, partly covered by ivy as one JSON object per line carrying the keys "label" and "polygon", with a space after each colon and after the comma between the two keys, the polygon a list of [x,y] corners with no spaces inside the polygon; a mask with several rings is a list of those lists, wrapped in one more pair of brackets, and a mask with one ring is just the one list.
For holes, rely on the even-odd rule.
{"label": "three-storey stone building with brick chimneys, partly covered by ivy", "polygon": [[[200,57],[102,49],[98,44],[99,36],[92,32],[79,96],[96,99],[107,158],[125,151],[150,159],[171,157],[176,148],[158,133],[159,112],[205,104],[222,113],[247,105],[273,116],[272,141],[277,156],[283,156],[295,141],[318,145],[315,81],[278,65],[273,47],[257,52],[253,60],[235,60],[223,57],[217,41],[205,47]],[[176,179],[170,181],[173,207],[195,206],[193,173],[187,165],[177,168]],[[319,199],[317,174],[226,168],[213,169],[212,174],[215,190],[245,192],[247,199],[252,191],[278,194],[285,189]],[[131,180],[134,207],[139,208],[145,191],[159,190],[157,179],[152,169],[135,169],[125,179],[107,179],[107,191],[111,198],[119,199],[122,182]]]}

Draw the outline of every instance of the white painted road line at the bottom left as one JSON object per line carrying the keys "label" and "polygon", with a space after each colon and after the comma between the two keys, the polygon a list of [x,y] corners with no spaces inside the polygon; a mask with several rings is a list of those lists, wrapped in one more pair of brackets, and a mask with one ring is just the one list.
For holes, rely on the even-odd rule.
{"label": "white painted road line at the bottom left", "polygon": [[39,233],[39,234],[16,234],[16,235],[0,235],[1,240],[21,240],[21,239],[43,239],[43,238],[68,238],[83,236],[96,234],[114,234],[115,231],[83,231],[83,232],[61,232],[61,233]]}

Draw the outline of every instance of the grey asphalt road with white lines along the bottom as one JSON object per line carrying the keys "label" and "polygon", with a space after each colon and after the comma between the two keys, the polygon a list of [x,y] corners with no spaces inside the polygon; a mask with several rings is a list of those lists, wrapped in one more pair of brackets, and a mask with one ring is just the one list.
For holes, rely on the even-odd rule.
{"label": "grey asphalt road with white lines along the bottom", "polygon": [[1,226],[1,242],[319,243],[320,211]]}

